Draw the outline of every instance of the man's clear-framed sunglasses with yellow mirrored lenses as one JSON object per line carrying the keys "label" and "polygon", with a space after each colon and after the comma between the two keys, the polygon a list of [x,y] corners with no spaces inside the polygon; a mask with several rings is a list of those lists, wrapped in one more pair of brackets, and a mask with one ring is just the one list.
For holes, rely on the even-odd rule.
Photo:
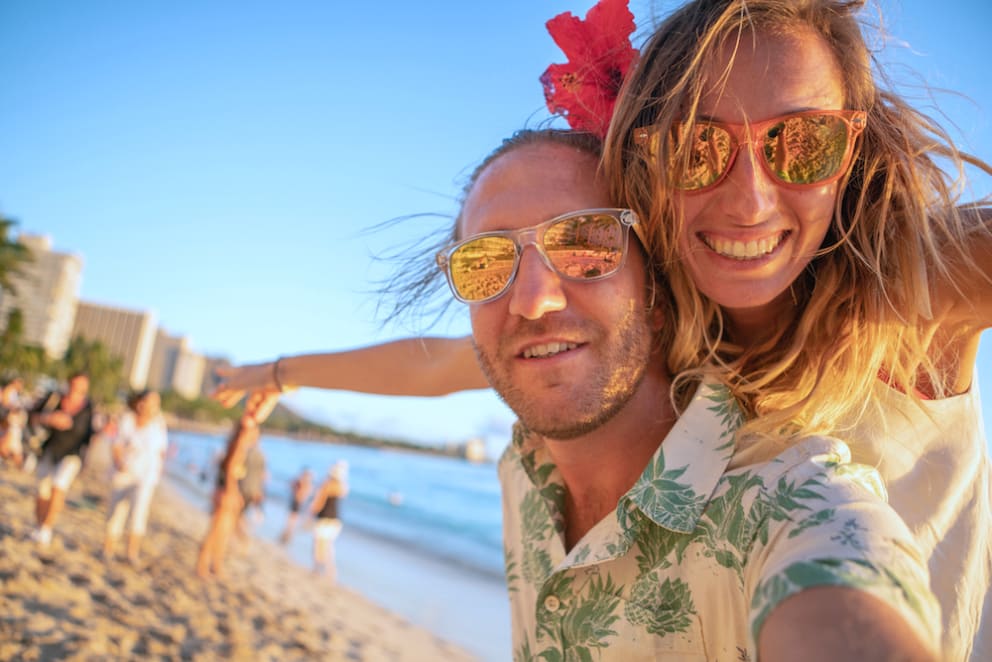
{"label": "man's clear-framed sunglasses with yellow mirrored lenses", "polygon": [[524,246],[533,244],[549,269],[567,280],[593,281],[620,270],[627,254],[627,228],[637,228],[630,209],[584,209],[520,230],[484,232],[437,254],[455,298],[492,301],[517,276]]}

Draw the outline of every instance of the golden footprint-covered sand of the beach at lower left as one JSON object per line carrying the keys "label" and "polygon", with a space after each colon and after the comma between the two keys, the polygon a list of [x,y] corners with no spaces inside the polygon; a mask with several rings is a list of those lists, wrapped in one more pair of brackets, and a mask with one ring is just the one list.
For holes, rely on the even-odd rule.
{"label": "golden footprint-covered sand of the beach at lower left", "polygon": [[84,470],[43,550],[28,537],[34,477],[0,467],[0,659],[475,659],[265,540],[235,549],[225,579],[201,582],[206,515],[166,482],[142,559],[105,561],[105,475]]}

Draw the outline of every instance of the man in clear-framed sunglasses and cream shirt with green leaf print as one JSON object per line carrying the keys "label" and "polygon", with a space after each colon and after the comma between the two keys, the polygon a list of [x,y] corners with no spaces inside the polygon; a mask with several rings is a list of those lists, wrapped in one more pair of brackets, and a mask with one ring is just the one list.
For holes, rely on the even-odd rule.
{"label": "man in clear-framed sunglasses and cream shirt with green leaf print", "polygon": [[925,564],[874,474],[823,439],[729,469],[740,412],[724,390],[676,416],[661,285],[636,239],[617,259],[587,221],[548,225],[605,218],[610,198],[597,155],[547,135],[487,159],[439,257],[519,417],[500,463],[514,656],[789,659],[808,637],[813,659],[932,659]]}

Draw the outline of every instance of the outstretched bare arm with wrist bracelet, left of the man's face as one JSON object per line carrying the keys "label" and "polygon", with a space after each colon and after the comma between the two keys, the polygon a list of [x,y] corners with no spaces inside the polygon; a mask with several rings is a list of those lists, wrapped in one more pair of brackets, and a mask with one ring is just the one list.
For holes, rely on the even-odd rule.
{"label": "outstretched bare arm with wrist bracelet, left of the man's face", "polygon": [[437,396],[488,388],[469,337],[405,338],[323,354],[285,356],[278,362],[218,370],[214,397],[230,406],[245,391],[307,386],[380,395]]}

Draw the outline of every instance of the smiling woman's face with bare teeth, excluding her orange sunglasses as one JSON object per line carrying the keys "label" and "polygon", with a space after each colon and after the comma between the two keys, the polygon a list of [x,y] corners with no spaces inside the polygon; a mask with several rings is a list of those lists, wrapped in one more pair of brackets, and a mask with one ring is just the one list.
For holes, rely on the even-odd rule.
{"label": "smiling woman's face with bare teeth, excluding her orange sunglasses", "polygon": [[[721,80],[731,52],[724,49],[706,80]],[[726,84],[712,87],[698,116],[730,124],[844,107],[833,54],[819,36],[805,31],[743,35]],[[682,262],[696,287],[723,307],[735,332],[767,332],[782,307],[791,305],[789,286],[823,242],[837,188],[836,182],[780,186],[745,145],[720,184],[676,194]]]}

